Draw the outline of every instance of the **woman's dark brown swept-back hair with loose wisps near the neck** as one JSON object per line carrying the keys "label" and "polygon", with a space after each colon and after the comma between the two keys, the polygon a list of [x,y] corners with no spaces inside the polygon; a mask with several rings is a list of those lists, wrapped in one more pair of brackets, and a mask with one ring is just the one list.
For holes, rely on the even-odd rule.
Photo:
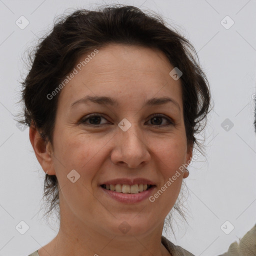
{"label": "woman's dark brown swept-back hair with loose wisps near the neck", "polygon": [[[29,53],[30,69],[21,82],[23,112],[19,122],[34,125],[42,138],[52,144],[59,93],[51,100],[46,95],[73,69],[81,54],[110,43],[160,49],[182,71],[179,79],[187,143],[201,148],[195,134],[205,126],[210,93],[199,60],[193,56],[197,56],[195,49],[166,26],[158,14],[146,14],[134,6],[118,4],[97,10],[80,9],[54,23],[50,33]],[[55,175],[45,175],[43,196],[49,202],[46,213],[59,206],[57,184]],[[182,215],[177,204],[174,209]]]}

